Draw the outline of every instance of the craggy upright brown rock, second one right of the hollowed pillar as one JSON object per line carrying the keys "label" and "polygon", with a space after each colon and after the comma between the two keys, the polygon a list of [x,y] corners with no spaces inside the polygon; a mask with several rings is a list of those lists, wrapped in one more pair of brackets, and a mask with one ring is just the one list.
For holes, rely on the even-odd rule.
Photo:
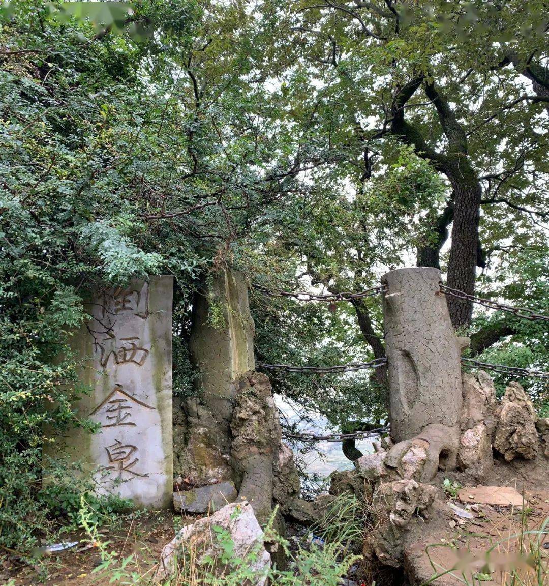
{"label": "craggy upright brown rock, second one right of the hollowed pillar", "polygon": [[536,411],[519,383],[512,382],[505,389],[496,417],[493,447],[505,460],[510,462],[517,456],[535,458],[539,449]]}

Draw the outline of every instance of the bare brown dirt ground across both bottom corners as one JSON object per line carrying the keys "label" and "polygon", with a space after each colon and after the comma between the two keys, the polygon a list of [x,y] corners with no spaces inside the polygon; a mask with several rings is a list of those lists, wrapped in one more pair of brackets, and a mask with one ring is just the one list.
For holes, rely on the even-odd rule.
{"label": "bare brown dirt ground across both bottom corners", "polygon": [[[526,553],[529,550],[529,540],[537,540],[537,550],[541,551],[546,580],[541,583],[549,586],[549,478],[544,473],[539,475],[538,471],[531,469],[526,472],[531,473],[533,482],[524,482],[524,477],[521,481],[516,476],[511,478],[509,472],[512,471],[509,469],[505,472],[503,475],[501,470],[496,470],[493,478],[490,478],[491,484],[518,490],[527,501],[524,511],[521,504],[512,506],[468,502],[471,500],[468,499],[469,493],[473,491],[468,491],[467,483],[463,482],[466,488],[461,500],[457,495],[447,495],[444,500],[435,501],[438,504],[430,513],[430,520],[418,532],[416,543],[406,551],[406,572],[411,582],[428,581],[434,571],[441,573],[457,564],[459,570],[444,575],[435,584],[463,584],[461,571],[469,576],[483,573],[486,581],[494,586],[505,584],[509,580],[506,568],[511,564],[515,567],[522,564],[521,572],[527,578],[531,574],[528,556],[516,556],[520,551],[519,541],[523,539],[522,551]],[[488,485],[488,482],[485,484]],[[448,506],[450,502],[466,509],[473,518],[464,519],[455,515]],[[193,517],[182,517],[166,511],[134,514],[108,529],[101,530],[99,540],[103,544],[102,550],[99,547],[90,547],[89,536],[73,533],[65,540],[78,541],[77,546],[44,556],[34,566],[14,561],[13,558],[10,560],[8,557],[0,557],[0,584],[107,586],[116,573],[120,576],[120,581],[116,583],[133,584],[132,573],[135,573],[135,580],[138,576],[153,575],[162,547],[173,539],[176,528],[179,529],[193,520]],[[527,527],[530,531],[543,530],[543,534],[532,533],[524,537],[521,527]],[[521,534],[523,538],[520,537]],[[127,558],[129,561],[121,570],[123,561]],[[112,560],[109,567],[105,567],[106,559]],[[539,583],[537,580],[524,580],[524,584]]]}

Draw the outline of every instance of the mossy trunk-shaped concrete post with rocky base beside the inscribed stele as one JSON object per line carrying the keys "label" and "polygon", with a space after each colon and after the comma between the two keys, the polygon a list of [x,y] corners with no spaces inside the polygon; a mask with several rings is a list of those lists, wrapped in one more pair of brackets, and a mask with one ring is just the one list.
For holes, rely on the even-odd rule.
{"label": "mossy trunk-shaped concrete post with rocky base beside the inscribed stele", "polygon": [[233,482],[260,522],[297,498],[299,481],[269,378],[255,372],[253,320],[245,276],[212,272],[193,302],[189,347],[195,396],[176,410],[176,472],[195,486]]}

